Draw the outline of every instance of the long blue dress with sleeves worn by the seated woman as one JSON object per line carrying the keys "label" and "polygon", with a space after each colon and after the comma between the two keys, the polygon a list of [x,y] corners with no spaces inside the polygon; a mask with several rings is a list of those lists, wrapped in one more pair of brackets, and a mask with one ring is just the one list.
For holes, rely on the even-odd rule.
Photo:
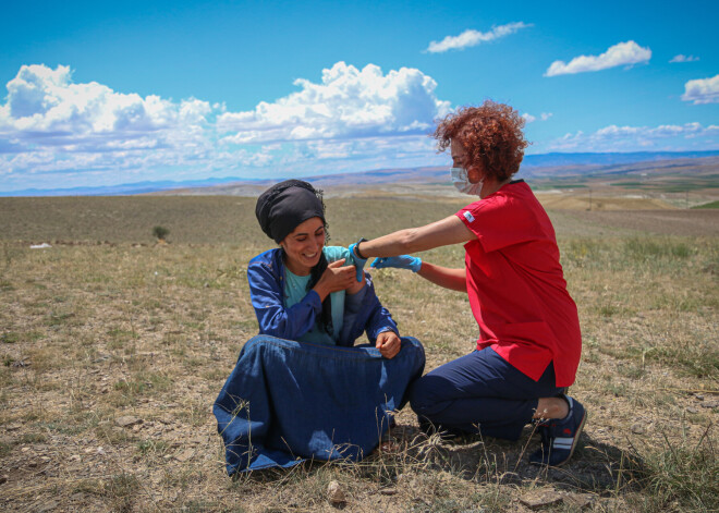
{"label": "long blue dress with sleeves worn by the seated woman", "polygon": [[[300,339],[321,313],[319,295],[309,291],[285,306],[282,252],[251,260],[260,334],[242,349],[214,405],[229,475],[305,459],[360,461],[379,444],[409,384],[422,376],[425,354],[412,338],[401,339],[391,359],[375,349],[379,333],[398,329],[366,277],[367,285],[345,297],[336,345],[308,343]],[[354,346],[363,332],[370,344]]]}

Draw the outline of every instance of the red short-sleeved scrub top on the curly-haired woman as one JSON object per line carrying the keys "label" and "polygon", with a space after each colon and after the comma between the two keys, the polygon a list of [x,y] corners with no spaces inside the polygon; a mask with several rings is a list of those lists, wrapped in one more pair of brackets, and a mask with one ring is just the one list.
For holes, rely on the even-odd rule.
{"label": "red short-sleeved scrub top on the curly-haired woman", "polygon": [[491,346],[537,381],[555,363],[557,387],[574,382],[582,353],[555,229],[529,186],[511,182],[456,216],[477,236],[465,244],[477,349]]}

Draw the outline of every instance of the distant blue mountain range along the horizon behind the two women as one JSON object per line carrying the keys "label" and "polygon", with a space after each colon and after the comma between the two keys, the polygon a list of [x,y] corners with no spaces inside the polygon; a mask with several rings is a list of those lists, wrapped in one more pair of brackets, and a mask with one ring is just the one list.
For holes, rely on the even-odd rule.
{"label": "distant blue mountain range along the horizon behind the two women", "polygon": [[[585,174],[612,172],[621,166],[624,171],[627,164],[642,163],[646,168],[650,162],[666,160],[686,160],[707,157],[719,157],[719,150],[710,151],[641,151],[631,154],[543,154],[526,155],[522,162],[520,175],[523,178],[541,176],[550,178],[552,175]],[[662,162],[663,166],[669,162]],[[662,166],[662,167],[663,167]],[[305,176],[305,180],[320,183],[322,186],[350,185],[353,183],[390,183],[398,180],[427,182],[442,181],[447,182],[447,166],[411,168],[411,169],[382,169],[375,171],[364,171],[355,173],[325,174],[316,176]],[[239,194],[239,192],[248,190],[256,191],[275,183],[282,178],[273,180],[252,180],[241,178],[211,178],[206,180],[192,180],[175,182],[171,180],[158,182],[134,182],[119,185],[93,186],[93,187],[73,187],[73,188],[26,188],[23,191],[0,191],[0,196],[126,196],[136,194],[202,194],[206,190],[207,194],[218,194],[220,191],[228,191],[229,194]]]}

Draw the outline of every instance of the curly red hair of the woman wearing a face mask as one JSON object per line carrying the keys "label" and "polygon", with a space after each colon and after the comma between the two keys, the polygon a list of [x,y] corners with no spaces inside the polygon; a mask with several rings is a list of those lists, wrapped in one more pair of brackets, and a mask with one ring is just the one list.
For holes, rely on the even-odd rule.
{"label": "curly red hair of the woman wearing a face mask", "polygon": [[480,107],[462,107],[447,115],[434,137],[440,151],[456,139],[467,152],[466,168],[480,164],[501,182],[520,170],[524,148],[529,145],[522,133],[524,122],[510,106],[486,100]]}

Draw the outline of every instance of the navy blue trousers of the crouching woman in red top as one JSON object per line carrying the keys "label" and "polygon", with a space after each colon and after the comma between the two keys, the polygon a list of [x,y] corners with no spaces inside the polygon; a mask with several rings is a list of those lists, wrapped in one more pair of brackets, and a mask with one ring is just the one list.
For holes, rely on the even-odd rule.
{"label": "navy blue trousers of the crouching woman in red top", "polygon": [[410,404],[425,429],[516,440],[532,420],[538,399],[562,390],[556,386],[552,364],[534,381],[485,347],[416,380]]}

